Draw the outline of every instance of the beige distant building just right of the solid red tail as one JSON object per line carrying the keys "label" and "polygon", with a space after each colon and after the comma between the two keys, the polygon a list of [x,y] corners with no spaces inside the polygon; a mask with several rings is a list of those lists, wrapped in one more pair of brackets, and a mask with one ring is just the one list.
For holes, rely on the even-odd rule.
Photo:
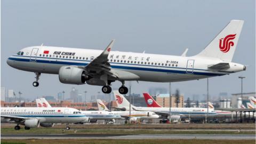
{"label": "beige distant building just right of the solid red tail", "polygon": [[[162,107],[170,107],[169,94],[157,94],[156,101]],[[172,107],[176,107],[174,95],[171,96],[171,105],[172,105]],[[184,107],[184,96],[183,95],[180,95],[180,103],[178,104],[178,107]]]}

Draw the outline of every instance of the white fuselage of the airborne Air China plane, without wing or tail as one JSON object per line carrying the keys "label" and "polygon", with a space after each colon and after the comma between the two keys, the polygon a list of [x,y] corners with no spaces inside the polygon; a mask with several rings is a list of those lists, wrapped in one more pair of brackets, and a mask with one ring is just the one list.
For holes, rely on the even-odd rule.
{"label": "white fuselage of the airborne Air China plane, without wing or tail", "polygon": [[[47,51],[47,54],[44,54]],[[21,50],[23,55],[12,55],[7,63],[11,67],[37,73],[59,74],[61,66],[84,68],[101,54],[101,50],[75,49],[51,46],[33,46]],[[122,77],[124,81],[179,82],[221,76],[244,69],[243,65],[229,62],[230,68],[210,70],[210,65],[222,62],[204,57],[180,57],[161,54],[111,51],[108,62],[112,69],[135,75]]]}

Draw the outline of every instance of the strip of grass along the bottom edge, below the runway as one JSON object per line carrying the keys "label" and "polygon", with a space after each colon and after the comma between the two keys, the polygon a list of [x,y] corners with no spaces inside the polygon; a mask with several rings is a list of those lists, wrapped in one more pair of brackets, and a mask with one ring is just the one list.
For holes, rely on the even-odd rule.
{"label": "strip of grass along the bottom edge, below the runway", "polygon": [[41,143],[51,143],[51,144],[59,144],[59,143],[95,143],[95,144],[126,144],[126,143],[134,143],[134,144],[168,144],[168,143],[177,143],[177,144],[225,144],[225,143],[232,143],[232,144],[241,144],[241,143],[255,143],[255,140],[108,140],[108,139],[65,139],[65,140],[37,140],[37,139],[27,139],[27,140],[1,140],[1,144],[41,144]]}

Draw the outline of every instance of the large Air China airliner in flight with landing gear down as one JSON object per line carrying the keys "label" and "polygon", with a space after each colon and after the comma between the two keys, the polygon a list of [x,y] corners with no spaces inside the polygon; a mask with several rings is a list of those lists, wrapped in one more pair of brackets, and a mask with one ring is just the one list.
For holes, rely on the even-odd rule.
{"label": "large Air China airliner in flight with landing gear down", "polygon": [[125,81],[180,82],[222,76],[245,70],[231,62],[243,27],[243,20],[231,20],[197,55],[181,56],[53,46],[30,46],[7,59],[9,66],[36,74],[38,86],[42,73],[57,74],[61,83],[102,86],[111,92],[111,83],[122,82],[119,93],[126,94]]}

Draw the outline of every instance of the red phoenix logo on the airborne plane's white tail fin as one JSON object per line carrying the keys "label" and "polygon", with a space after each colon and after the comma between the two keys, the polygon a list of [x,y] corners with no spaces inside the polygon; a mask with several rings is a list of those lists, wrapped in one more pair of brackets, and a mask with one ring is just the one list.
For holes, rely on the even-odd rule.
{"label": "red phoenix logo on the airborne plane's white tail fin", "polygon": [[[234,46],[234,42],[232,42],[230,40],[235,39],[235,38],[236,38],[236,34],[227,35],[224,39],[221,38],[220,39],[220,44],[219,44],[220,51],[222,51],[223,53],[228,52],[229,49],[230,49],[230,46]],[[222,42],[222,39],[223,39],[223,42]]]}

